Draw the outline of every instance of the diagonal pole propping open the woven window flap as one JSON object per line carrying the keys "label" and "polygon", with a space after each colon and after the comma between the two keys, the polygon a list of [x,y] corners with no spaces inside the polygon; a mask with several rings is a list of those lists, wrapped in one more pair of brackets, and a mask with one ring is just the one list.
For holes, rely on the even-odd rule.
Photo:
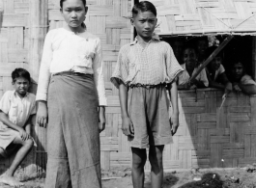
{"label": "diagonal pole propping open the woven window flap", "polygon": [[191,76],[189,81],[192,81],[193,79],[196,78],[196,76],[204,69],[207,67],[207,65],[213,60],[213,58],[225,47],[230,40],[232,40],[234,36],[228,36],[211,54],[211,56],[208,57],[208,59],[200,66],[198,67],[197,71],[195,72],[194,75]]}

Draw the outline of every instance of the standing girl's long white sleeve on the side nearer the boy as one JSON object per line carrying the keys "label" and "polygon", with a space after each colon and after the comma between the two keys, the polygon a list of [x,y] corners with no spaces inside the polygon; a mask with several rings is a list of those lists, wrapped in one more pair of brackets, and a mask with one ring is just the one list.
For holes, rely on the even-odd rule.
{"label": "standing girl's long white sleeve on the side nearer the boy", "polygon": [[93,70],[96,88],[98,91],[100,106],[106,106],[106,96],[105,96],[105,85],[104,85],[104,72],[102,63],[102,49],[100,39],[96,40],[96,53],[93,59]]}

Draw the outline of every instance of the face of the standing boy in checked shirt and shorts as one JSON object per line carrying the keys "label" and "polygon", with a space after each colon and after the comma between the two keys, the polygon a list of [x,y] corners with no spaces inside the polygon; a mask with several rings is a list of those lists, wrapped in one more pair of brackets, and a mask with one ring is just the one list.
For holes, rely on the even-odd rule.
{"label": "face of the standing boy in checked shirt and shorts", "polygon": [[135,27],[137,35],[142,39],[152,38],[156,22],[156,15],[152,12],[139,12],[130,19],[131,25]]}

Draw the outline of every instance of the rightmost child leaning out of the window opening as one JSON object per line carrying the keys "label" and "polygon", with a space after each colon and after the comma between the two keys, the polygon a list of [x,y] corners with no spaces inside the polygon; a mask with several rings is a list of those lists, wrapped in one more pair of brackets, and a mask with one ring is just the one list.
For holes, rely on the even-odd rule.
{"label": "rightmost child leaning out of the window opening", "polygon": [[231,68],[231,81],[233,90],[244,94],[256,94],[255,81],[245,73],[245,68],[241,61],[235,61]]}

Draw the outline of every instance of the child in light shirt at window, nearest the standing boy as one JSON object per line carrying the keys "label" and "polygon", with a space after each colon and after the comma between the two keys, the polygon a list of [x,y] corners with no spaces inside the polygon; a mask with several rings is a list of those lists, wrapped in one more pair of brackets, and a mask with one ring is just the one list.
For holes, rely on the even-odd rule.
{"label": "child in light shirt at window, nearest the standing boy", "polygon": [[197,70],[197,53],[193,46],[186,46],[183,53],[183,64],[181,65],[185,71],[178,76],[178,89],[195,89],[206,88],[209,85],[205,68],[192,81],[190,77]]}

